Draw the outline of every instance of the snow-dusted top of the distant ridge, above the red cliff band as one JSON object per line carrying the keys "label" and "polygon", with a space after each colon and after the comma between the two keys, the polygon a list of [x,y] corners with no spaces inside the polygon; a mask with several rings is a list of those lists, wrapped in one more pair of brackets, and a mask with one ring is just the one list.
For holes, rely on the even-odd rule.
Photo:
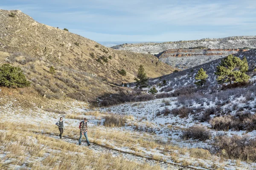
{"label": "snow-dusted top of the distant ridge, above the red cliff band", "polygon": [[114,49],[127,50],[137,53],[159,54],[169,49],[187,49],[205,47],[209,49],[256,48],[256,36],[226,37],[216,39],[201,39],[190,41],[170,41],[162,43],[139,43],[116,45]]}

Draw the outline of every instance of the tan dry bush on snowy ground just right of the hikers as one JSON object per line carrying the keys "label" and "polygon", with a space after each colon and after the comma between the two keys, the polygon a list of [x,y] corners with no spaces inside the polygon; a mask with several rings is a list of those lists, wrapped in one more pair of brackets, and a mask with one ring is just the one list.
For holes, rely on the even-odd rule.
{"label": "tan dry bush on snowy ground just right of the hikers", "polygon": [[105,116],[105,121],[103,125],[106,127],[122,127],[125,126],[126,119],[124,116],[111,114],[110,116]]}

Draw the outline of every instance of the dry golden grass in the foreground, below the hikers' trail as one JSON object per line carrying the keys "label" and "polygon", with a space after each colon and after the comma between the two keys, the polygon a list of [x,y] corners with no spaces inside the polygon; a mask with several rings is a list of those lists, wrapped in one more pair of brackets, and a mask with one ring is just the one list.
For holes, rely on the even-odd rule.
{"label": "dry golden grass in the foreground, below the hikers' trail", "polygon": [[[8,122],[11,124],[10,122]],[[0,129],[8,129],[6,132],[0,132],[0,145],[6,146],[5,151],[9,159],[15,159],[12,164],[21,165],[26,161],[25,156],[30,156],[29,166],[33,170],[44,169],[66,169],[66,170],[109,170],[109,169],[125,169],[125,170],[160,170],[159,166],[151,166],[149,164],[138,164],[136,162],[127,161],[122,157],[114,158],[105,153],[93,153],[92,150],[77,146],[76,144],[53,139],[41,134],[35,134],[17,130],[17,127],[8,126],[8,123],[1,123]],[[22,130],[28,130],[22,126]],[[43,151],[42,151],[43,150]],[[48,153],[49,155],[46,155]],[[35,161],[38,157],[43,161]],[[20,161],[22,160],[22,161]],[[9,169],[8,164],[0,161],[1,169]]]}

